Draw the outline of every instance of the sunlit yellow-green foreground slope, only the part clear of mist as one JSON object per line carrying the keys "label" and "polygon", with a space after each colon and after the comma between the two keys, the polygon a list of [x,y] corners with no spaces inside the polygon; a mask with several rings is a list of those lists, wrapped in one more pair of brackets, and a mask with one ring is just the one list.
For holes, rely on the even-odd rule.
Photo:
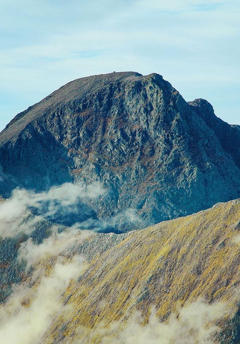
{"label": "sunlit yellow-green foreground slope, only the part clear of mist", "polygon": [[100,343],[106,336],[100,327],[125,322],[136,310],[146,324],[155,306],[163,322],[200,298],[224,304],[215,339],[238,343],[238,318],[229,320],[238,310],[239,221],[240,200],[235,200],[133,232],[69,284],[62,298],[69,309],[45,343],[75,343],[78,336],[80,343]]}

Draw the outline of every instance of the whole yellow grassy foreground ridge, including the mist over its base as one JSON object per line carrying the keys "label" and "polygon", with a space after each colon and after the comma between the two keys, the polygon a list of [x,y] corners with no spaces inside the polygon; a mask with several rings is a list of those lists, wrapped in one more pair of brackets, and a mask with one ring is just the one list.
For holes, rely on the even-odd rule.
{"label": "whole yellow grassy foreground ridge, including the mist over its base", "polygon": [[[88,264],[64,284],[61,307],[45,324],[43,337],[29,343],[142,343],[146,336],[151,344],[238,343],[239,230],[240,200],[234,200],[129,232],[106,251],[95,249],[97,237],[107,242],[112,234],[77,234],[58,258],[73,264],[80,253]],[[57,265],[51,250],[33,264],[32,277],[24,282],[27,292],[20,295],[26,314],[35,309],[38,289]],[[71,270],[66,269],[61,278]]]}

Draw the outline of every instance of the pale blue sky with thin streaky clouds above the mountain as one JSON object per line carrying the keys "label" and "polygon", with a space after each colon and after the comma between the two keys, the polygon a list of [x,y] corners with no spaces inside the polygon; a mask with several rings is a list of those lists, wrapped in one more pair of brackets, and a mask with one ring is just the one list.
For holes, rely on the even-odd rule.
{"label": "pale blue sky with thin streaky clouds above the mountain", "polygon": [[70,80],[159,73],[240,124],[239,0],[0,0],[0,129]]}

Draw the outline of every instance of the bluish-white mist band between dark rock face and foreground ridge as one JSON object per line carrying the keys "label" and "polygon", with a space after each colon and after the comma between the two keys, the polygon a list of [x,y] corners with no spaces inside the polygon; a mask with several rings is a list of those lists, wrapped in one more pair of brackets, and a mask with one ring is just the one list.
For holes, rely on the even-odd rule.
{"label": "bluish-white mist band between dark rock face and foreground ridge", "polygon": [[[131,208],[108,218],[98,218],[98,201],[106,194],[107,190],[99,182],[88,185],[84,182],[64,183],[39,193],[17,188],[10,198],[0,203],[0,237],[30,234],[41,218],[63,226],[103,233],[122,233],[144,226]],[[30,218],[30,214],[35,216]]]}

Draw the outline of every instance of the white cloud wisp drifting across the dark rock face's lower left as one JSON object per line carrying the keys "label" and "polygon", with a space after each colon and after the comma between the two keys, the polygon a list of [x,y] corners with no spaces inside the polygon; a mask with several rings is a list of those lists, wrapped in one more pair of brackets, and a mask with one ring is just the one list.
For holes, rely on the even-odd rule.
{"label": "white cloud wisp drifting across the dark rock face's lower left", "polygon": [[[53,186],[47,192],[35,193],[15,189],[12,196],[0,203],[0,237],[14,237],[19,233],[31,233],[40,216],[29,216],[29,208],[37,209],[43,217],[54,217],[61,212],[73,211],[78,200],[98,198],[105,190],[100,183],[86,185],[64,183]],[[77,211],[77,209],[76,209]]]}

